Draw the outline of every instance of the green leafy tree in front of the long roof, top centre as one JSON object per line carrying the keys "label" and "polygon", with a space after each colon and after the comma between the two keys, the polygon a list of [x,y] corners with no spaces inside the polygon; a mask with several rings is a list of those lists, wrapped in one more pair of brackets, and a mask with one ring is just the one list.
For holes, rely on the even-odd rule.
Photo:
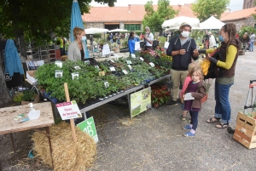
{"label": "green leafy tree in front of the long roof, top centre", "polygon": [[169,3],[170,1],[168,0],[159,0],[158,8],[154,11],[153,2],[148,1],[145,4],[146,14],[143,18],[143,26],[149,26],[151,31],[162,31],[161,25],[163,22],[174,18],[175,14],[178,13],[178,11],[169,6]]}

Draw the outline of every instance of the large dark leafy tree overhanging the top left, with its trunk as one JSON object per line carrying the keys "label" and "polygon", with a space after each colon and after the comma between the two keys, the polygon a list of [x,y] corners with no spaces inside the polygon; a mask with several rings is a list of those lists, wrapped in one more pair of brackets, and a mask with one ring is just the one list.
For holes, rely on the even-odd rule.
{"label": "large dark leafy tree overhanging the top left, with its trunk", "polygon": [[[113,6],[116,0],[95,0]],[[78,0],[81,13],[88,13],[91,0]],[[0,33],[4,38],[20,39],[21,54],[26,56],[25,39],[40,42],[55,32],[68,36],[72,0],[0,0]],[[6,88],[0,60],[0,106],[12,99]]]}

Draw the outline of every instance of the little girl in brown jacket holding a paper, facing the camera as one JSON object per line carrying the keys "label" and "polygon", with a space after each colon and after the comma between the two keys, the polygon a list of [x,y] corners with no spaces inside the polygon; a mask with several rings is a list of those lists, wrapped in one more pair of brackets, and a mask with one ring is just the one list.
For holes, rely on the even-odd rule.
{"label": "little girl in brown jacket holding a paper, facing the camera", "polygon": [[[189,111],[191,121],[183,129],[190,129],[189,132],[183,134],[187,137],[195,136],[195,130],[198,124],[198,112],[201,110],[201,98],[206,94],[205,83],[203,82],[203,73],[201,67],[192,69],[192,81],[189,83],[185,93],[191,93],[195,100],[185,100],[184,109]],[[183,94],[183,98],[185,95]]]}

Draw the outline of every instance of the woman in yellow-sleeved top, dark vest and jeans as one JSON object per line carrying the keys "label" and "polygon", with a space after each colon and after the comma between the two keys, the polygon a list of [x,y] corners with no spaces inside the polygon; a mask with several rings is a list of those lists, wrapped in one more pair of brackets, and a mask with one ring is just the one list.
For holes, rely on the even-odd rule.
{"label": "woman in yellow-sleeved top, dark vest and jeans", "polygon": [[[227,128],[230,125],[230,87],[234,84],[236,60],[241,50],[241,42],[236,37],[236,25],[228,23],[220,30],[219,52],[221,60],[211,56],[207,59],[216,64],[215,73],[215,115],[207,119],[207,123],[218,123],[216,128]],[[215,49],[207,49],[207,54],[211,54]]]}

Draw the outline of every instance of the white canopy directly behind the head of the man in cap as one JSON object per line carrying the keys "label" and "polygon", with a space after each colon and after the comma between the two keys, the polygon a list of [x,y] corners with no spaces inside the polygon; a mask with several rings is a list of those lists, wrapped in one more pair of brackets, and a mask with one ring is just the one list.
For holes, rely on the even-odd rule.
{"label": "white canopy directly behind the head of the man in cap", "polygon": [[171,20],[165,20],[162,24],[162,28],[179,28],[183,22],[188,23],[192,28],[199,28],[200,21],[197,18],[191,18],[191,17],[185,17],[185,16],[179,16]]}

